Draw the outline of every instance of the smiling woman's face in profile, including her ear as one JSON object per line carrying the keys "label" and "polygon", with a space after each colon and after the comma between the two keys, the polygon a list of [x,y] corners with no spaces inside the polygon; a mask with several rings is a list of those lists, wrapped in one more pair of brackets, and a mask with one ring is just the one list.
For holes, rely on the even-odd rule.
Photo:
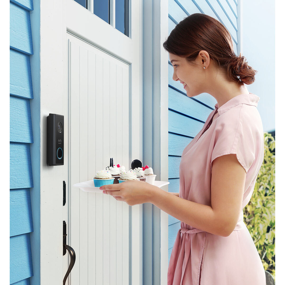
{"label": "smiling woman's face in profile, including her ear", "polygon": [[194,64],[192,64],[184,57],[169,53],[169,59],[170,62],[172,61],[171,64],[174,69],[172,79],[180,81],[183,85],[186,84],[184,89],[188,97],[197,96],[207,89],[205,88],[207,77],[203,67],[209,66],[208,56],[209,54],[206,51],[200,51]]}

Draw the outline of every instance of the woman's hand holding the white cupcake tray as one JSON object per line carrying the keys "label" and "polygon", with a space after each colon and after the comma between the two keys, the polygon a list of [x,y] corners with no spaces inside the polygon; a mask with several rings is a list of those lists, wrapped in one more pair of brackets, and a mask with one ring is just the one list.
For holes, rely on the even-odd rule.
{"label": "woman's hand holding the white cupcake tray", "polygon": [[103,185],[100,190],[104,194],[113,196],[117,201],[124,201],[133,206],[142,203],[149,203],[152,191],[156,186],[140,180],[129,180],[117,184]]}

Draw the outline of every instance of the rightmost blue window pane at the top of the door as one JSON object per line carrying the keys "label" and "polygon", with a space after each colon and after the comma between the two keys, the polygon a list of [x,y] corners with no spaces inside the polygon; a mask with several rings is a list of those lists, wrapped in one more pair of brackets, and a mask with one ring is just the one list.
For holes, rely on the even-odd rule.
{"label": "rightmost blue window pane at the top of the door", "polygon": [[129,0],[116,0],[115,27],[129,36]]}

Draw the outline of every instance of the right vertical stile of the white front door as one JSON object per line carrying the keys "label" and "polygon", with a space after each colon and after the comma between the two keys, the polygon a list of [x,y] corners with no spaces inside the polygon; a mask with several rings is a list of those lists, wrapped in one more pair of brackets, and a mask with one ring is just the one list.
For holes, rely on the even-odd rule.
{"label": "right vertical stile of the white front door", "polygon": [[[137,138],[143,138],[143,130],[138,128],[137,119],[139,117],[139,121],[143,121],[143,113],[140,112],[141,110],[141,98],[143,94],[141,93],[141,86],[143,84],[142,81],[142,65],[140,64],[140,58],[142,56],[141,44],[143,39],[140,36],[141,29],[141,15],[143,14],[143,10],[141,9],[141,1],[130,1],[129,5],[129,36],[124,37],[128,38],[132,41],[132,63],[130,65],[130,162],[129,165],[131,166],[131,162],[138,158],[141,160],[140,149],[141,145],[138,144]],[[134,33],[133,33],[134,31]],[[140,124],[139,124],[140,125]],[[143,216],[142,212],[142,205],[135,205],[130,207],[130,219],[131,219],[131,257],[130,257],[130,284],[141,284],[141,277],[143,275],[143,268],[141,267],[142,259],[143,259],[143,252],[141,251],[142,246],[142,239],[137,239],[137,233],[142,232],[142,224],[141,219]]]}

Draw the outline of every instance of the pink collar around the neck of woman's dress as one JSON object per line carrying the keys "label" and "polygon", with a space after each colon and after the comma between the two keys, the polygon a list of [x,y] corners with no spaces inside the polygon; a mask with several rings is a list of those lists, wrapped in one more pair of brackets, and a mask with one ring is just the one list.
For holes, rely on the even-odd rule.
{"label": "pink collar around the neck of woman's dress", "polygon": [[219,115],[225,113],[227,110],[235,107],[236,105],[239,104],[247,104],[247,105],[253,105],[257,107],[257,103],[260,100],[260,97],[257,95],[250,93],[249,94],[240,94],[229,101],[227,101],[225,104],[221,105],[221,107],[218,108],[218,103],[215,104],[215,109],[218,109]]}

